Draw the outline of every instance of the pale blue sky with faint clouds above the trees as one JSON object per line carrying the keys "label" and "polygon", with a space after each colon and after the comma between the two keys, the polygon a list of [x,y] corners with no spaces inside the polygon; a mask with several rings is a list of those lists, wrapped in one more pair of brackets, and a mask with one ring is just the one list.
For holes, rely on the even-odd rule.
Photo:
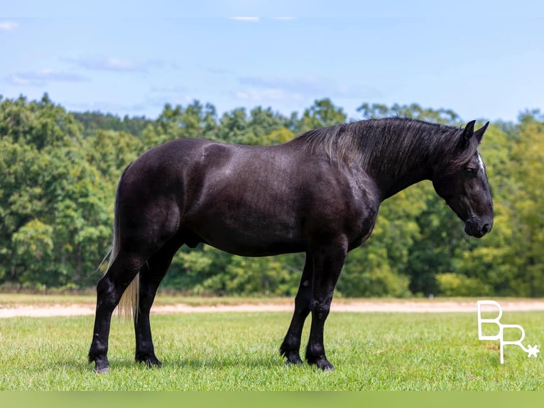
{"label": "pale blue sky with faint clouds above the trees", "polygon": [[0,2],[0,95],[154,119],[328,97],[516,121],[544,109],[544,1]]}

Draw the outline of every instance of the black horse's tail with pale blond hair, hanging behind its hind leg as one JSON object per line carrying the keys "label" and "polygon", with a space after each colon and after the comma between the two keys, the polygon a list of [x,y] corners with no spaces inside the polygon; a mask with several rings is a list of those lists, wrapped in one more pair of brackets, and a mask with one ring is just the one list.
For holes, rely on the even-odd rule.
{"label": "black horse's tail with pale blond hair, hanging behind its hind leg", "polygon": [[[126,170],[130,167],[127,166]],[[124,176],[124,173],[123,173]],[[121,176],[121,180],[123,179]],[[121,181],[119,181],[119,185]],[[114,263],[117,254],[119,254],[120,246],[120,237],[119,237],[119,186],[117,187],[117,192],[115,195],[115,207],[114,207],[114,236],[111,240],[111,249],[109,250],[109,259],[108,267],[106,270],[109,270],[111,265]],[[108,255],[106,255],[108,256]],[[104,258],[105,259],[105,258]],[[138,301],[140,293],[140,274],[136,274],[136,277],[131,281],[129,286],[125,289],[119,304],[117,305],[117,313],[119,316],[125,316],[126,318],[131,318],[134,316],[134,319],[138,318]]]}

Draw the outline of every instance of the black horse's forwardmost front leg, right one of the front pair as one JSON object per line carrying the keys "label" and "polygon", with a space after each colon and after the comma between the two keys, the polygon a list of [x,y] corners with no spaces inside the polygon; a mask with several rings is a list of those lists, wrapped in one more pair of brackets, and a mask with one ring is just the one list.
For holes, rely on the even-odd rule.
{"label": "black horse's forwardmost front leg, right one of the front pair", "polygon": [[321,370],[334,370],[325,356],[323,331],[329,316],[334,287],[338,281],[347,254],[347,245],[340,243],[328,249],[312,252],[314,274],[312,282],[312,326],[306,348],[306,360]]}

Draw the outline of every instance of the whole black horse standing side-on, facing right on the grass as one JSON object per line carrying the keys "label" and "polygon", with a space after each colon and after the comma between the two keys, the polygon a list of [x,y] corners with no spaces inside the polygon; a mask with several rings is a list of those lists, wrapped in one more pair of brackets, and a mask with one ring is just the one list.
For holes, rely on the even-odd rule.
{"label": "whole black horse standing side-on, facing right on the grass", "polygon": [[332,370],[323,327],[334,286],[347,252],[371,234],[383,200],[427,179],[468,235],[491,230],[493,203],[478,152],[486,127],[371,119],[311,130],[277,146],[178,139],[147,151],[119,181],[89,363],[95,372],[109,370],[111,314],[134,280],[136,289],[123,297],[134,313],[136,361],[161,366],[151,338],[151,304],[175,252],[204,242],[248,257],[305,252],[280,350],[287,363],[302,363],[300,336],[311,312],[305,358]]}

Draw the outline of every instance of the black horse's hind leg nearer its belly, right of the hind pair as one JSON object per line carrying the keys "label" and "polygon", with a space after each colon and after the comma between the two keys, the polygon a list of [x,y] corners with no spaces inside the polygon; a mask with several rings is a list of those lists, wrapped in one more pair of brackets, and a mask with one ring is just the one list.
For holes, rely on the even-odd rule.
{"label": "black horse's hind leg nearer its belly, right of the hind pair", "polygon": [[134,331],[136,333],[136,354],[134,357],[138,363],[145,363],[148,367],[162,366],[161,361],[155,355],[153,347],[149,312],[158,285],[168,271],[175,252],[178,251],[182,244],[180,238],[172,238],[166,242],[161,250],[148,259],[148,262],[140,271],[138,314],[135,316],[134,321]]}

